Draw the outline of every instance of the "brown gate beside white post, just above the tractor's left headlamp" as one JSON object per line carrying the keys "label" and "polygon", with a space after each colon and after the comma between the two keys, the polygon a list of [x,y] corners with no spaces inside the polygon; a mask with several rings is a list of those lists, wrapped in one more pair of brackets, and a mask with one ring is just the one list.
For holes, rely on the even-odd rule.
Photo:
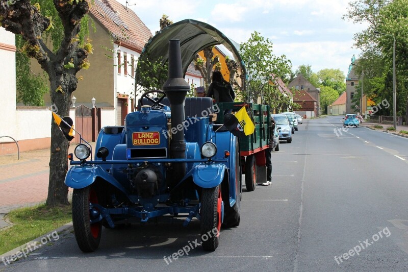
{"label": "brown gate beside white post, just above the tractor's left headlamp", "polygon": [[[86,141],[92,141],[92,109],[81,105],[75,108],[75,130],[81,133]],[[80,137],[75,137],[75,143],[80,142]]]}

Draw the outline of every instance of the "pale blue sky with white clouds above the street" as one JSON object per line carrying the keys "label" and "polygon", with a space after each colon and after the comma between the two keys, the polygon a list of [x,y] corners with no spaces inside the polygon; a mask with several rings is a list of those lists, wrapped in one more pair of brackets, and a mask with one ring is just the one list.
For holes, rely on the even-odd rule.
{"label": "pale blue sky with white clouds above the street", "polygon": [[152,33],[163,14],[173,22],[209,23],[238,43],[257,31],[272,41],[274,55],[291,60],[293,71],[309,64],[314,72],[339,68],[346,76],[352,55],[360,54],[352,47],[353,34],[366,28],[341,18],[350,0],[127,1]]}

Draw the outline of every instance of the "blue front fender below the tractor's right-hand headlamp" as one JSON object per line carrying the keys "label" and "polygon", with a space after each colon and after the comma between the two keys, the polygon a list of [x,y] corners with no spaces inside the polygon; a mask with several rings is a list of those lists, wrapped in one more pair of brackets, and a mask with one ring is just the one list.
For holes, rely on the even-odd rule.
{"label": "blue front fender below the tractor's right-hand headlamp", "polygon": [[213,188],[221,184],[226,166],[222,163],[197,164],[192,169],[193,181],[201,188]]}

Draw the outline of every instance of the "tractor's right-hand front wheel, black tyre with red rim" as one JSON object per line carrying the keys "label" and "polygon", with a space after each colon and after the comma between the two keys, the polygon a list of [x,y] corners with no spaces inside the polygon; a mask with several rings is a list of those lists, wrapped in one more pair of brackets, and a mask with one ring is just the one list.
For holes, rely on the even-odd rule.
{"label": "tractor's right-hand front wheel, black tyre with red rim", "polygon": [[[215,251],[220,240],[222,197],[220,185],[201,191],[201,245],[205,251]],[[214,234],[214,232],[216,232]]]}

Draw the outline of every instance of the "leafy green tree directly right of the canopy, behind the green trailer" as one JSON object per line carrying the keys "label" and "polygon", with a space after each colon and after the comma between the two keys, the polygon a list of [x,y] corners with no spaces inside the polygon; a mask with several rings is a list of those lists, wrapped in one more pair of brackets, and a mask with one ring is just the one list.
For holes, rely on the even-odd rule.
{"label": "leafy green tree directly right of the canopy, behind the green trailer", "polygon": [[248,93],[241,93],[241,95],[252,97],[253,101],[261,97],[271,105],[278,94],[272,92],[272,88],[265,88],[265,86],[273,82],[275,77],[288,77],[291,72],[291,61],[285,55],[275,56],[273,43],[256,31],[251,34],[248,41],[241,43],[240,51],[248,74]]}

